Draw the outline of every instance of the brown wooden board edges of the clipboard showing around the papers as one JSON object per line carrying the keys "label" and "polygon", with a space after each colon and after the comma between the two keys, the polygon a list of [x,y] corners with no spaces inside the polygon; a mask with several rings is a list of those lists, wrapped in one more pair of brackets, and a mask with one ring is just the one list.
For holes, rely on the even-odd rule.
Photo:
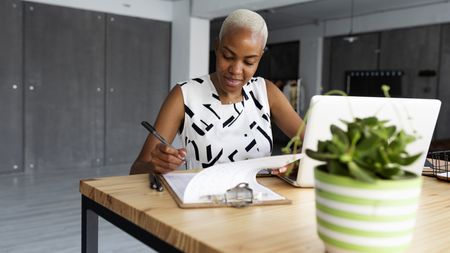
{"label": "brown wooden board edges of the clipboard showing around the papers", "polygon": [[[189,171],[176,171],[174,173],[196,173],[199,170],[189,170]],[[158,175],[160,181],[163,183],[165,189],[170,193],[172,198],[177,203],[180,208],[218,208],[218,207],[232,207],[227,203],[184,203],[175,191],[172,189],[170,184],[166,181],[166,179]],[[283,196],[284,197],[284,196]],[[266,201],[256,201],[250,204],[249,206],[267,206],[267,205],[289,205],[292,204],[292,200],[290,199],[279,199],[279,200],[266,200]]]}

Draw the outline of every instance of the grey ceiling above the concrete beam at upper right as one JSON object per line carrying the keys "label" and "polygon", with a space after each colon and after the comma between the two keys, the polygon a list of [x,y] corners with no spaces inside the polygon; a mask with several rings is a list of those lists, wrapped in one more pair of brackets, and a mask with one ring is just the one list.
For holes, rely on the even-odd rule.
{"label": "grey ceiling above the concrete beam at upper right", "polygon": [[[352,0],[315,0],[306,3],[257,11],[266,20],[269,30],[348,18]],[[407,9],[449,0],[354,0],[353,15],[361,16],[389,10]],[[236,6],[239,8],[239,6]],[[211,33],[217,34],[224,17],[211,20]]]}

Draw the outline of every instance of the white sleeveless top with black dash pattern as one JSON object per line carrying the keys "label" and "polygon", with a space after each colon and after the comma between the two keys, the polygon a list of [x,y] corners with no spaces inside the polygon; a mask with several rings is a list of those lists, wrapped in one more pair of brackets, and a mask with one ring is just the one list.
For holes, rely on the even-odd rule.
{"label": "white sleeveless top with black dash pattern", "polygon": [[270,108],[264,78],[243,87],[243,100],[222,104],[210,76],[180,83],[184,99],[181,142],[187,167],[269,156],[272,152]]}

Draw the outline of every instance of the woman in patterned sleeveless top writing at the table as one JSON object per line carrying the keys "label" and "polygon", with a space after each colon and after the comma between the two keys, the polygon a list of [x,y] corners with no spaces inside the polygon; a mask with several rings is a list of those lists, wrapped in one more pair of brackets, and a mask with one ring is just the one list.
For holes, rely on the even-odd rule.
{"label": "woman in patterned sleeveless top writing at the table", "polygon": [[188,168],[206,168],[269,156],[271,121],[288,137],[297,133],[303,121],[283,93],[272,82],[253,77],[267,34],[264,19],[255,12],[236,10],[225,19],[215,48],[216,72],[177,84],[156,119],[157,131],[169,142],[178,131],[184,148],[149,135],[130,174],[167,173],[185,162]]}

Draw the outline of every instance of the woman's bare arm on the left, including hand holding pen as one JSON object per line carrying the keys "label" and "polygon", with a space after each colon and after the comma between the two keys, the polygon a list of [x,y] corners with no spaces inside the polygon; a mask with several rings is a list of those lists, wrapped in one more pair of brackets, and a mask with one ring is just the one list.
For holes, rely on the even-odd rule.
{"label": "woman's bare arm on the left, including hand holding pen", "polygon": [[[184,101],[180,86],[176,85],[167,96],[158,117],[155,121],[155,129],[169,143],[172,143],[178,129],[184,120]],[[138,157],[130,169],[130,174],[167,173],[175,170],[183,164],[185,149],[175,149],[160,143],[153,135],[149,134],[145,140]]]}

